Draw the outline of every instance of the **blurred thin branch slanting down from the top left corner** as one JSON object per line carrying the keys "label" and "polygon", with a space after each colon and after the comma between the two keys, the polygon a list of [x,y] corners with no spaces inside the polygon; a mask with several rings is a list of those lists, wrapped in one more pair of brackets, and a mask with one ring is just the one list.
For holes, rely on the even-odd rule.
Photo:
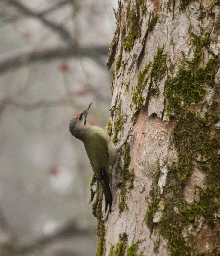
{"label": "blurred thin branch slanting down from the top left corner", "polygon": [[70,36],[69,32],[65,30],[62,26],[55,24],[54,22],[47,20],[44,17],[44,12],[43,13],[36,13],[32,11],[31,9],[27,8],[25,5],[22,3],[15,1],[15,0],[8,0],[8,3],[10,5],[13,5],[17,9],[19,9],[23,14],[30,16],[30,17],[35,17],[36,19],[41,20],[47,27],[50,27],[52,30],[55,32],[58,32],[60,36],[69,43],[69,45],[74,44],[74,40],[72,36]]}

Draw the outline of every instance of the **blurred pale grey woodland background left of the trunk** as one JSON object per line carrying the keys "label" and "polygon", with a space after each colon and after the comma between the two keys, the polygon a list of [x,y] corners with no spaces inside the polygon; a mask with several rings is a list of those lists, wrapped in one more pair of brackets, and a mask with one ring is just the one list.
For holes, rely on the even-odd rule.
{"label": "blurred pale grey woodland background left of the trunk", "polygon": [[95,255],[93,173],[69,121],[109,119],[117,0],[0,1],[0,255]]}

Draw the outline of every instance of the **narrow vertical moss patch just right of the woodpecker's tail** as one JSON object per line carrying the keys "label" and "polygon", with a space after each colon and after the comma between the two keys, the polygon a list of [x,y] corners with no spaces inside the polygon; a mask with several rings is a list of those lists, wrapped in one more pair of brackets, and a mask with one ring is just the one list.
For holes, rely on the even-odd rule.
{"label": "narrow vertical moss patch just right of the woodpecker's tail", "polygon": [[131,161],[131,156],[129,153],[129,149],[127,146],[125,146],[124,149],[124,154],[123,154],[123,165],[120,170],[120,195],[121,195],[121,200],[119,202],[119,213],[122,213],[123,211],[127,210],[128,211],[128,206],[126,203],[126,198],[127,198],[127,192],[133,188],[133,182],[134,182],[134,171],[129,170],[130,166],[130,161]]}

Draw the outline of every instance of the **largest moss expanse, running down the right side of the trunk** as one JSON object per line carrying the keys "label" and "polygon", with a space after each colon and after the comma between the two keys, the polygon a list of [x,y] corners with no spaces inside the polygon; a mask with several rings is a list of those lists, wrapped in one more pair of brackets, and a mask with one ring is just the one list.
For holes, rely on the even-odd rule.
{"label": "largest moss expanse, running down the right side of the trunk", "polygon": [[[188,241],[185,241],[182,231],[189,223],[194,226],[199,217],[203,217],[203,223],[213,230],[218,230],[214,212],[220,207],[220,130],[213,132],[212,128],[220,118],[220,84],[214,80],[219,61],[209,58],[204,64],[204,50],[209,50],[210,44],[208,33],[204,33],[203,30],[199,36],[190,33],[190,38],[194,45],[193,58],[186,58],[185,54],[182,54],[178,72],[176,76],[167,76],[164,90],[167,115],[175,119],[172,142],[178,159],[168,168],[162,195],[157,186],[159,169],[158,173],[154,173],[148,211],[145,215],[145,222],[151,233],[155,231],[167,239],[167,248],[172,256],[206,255],[202,252],[198,254],[197,239],[194,235],[191,234]],[[206,87],[214,88],[215,92],[210,105],[201,102]],[[202,118],[197,109],[204,105],[208,110]],[[199,169],[205,173],[205,187],[202,189],[196,186],[199,199],[188,204],[184,198],[184,188],[194,170],[193,161],[198,155],[207,159],[203,162],[197,161]],[[165,202],[164,210],[159,223],[153,223],[153,216],[158,211],[160,200]],[[215,232],[213,251],[207,255],[218,255],[218,236],[218,232]]]}

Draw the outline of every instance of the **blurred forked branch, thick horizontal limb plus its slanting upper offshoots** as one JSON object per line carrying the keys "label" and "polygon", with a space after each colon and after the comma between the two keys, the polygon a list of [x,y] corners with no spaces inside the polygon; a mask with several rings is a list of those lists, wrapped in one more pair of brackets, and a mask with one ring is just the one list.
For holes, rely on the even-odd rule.
{"label": "blurred forked branch, thick horizontal limb plus its slanting upper offshoots", "polygon": [[50,21],[45,17],[46,14],[56,10],[57,8],[71,3],[69,0],[59,1],[52,7],[41,12],[34,11],[16,0],[6,0],[6,3],[14,6],[19,11],[18,16],[15,16],[15,19],[18,19],[22,15],[26,15],[41,20],[44,25],[58,33],[61,38],[63,38],[64,42],[67,42],[67,47],[49,48],[38,51],[33,50],[28,53],[22,53],[18,56],[2,60],[0,61],[0,73],[11,68],[21,67],[26,64],[33,63],[35,61],[50,61],[56,58],[68,58],[72,56],[89,57],[94,59],[97,63],[101,63],[103,65],[102,61],[100,61],[100,56],[108,54],[108,46],[80,47],[77,44],[77,38],[73,38],[62,25]]}

